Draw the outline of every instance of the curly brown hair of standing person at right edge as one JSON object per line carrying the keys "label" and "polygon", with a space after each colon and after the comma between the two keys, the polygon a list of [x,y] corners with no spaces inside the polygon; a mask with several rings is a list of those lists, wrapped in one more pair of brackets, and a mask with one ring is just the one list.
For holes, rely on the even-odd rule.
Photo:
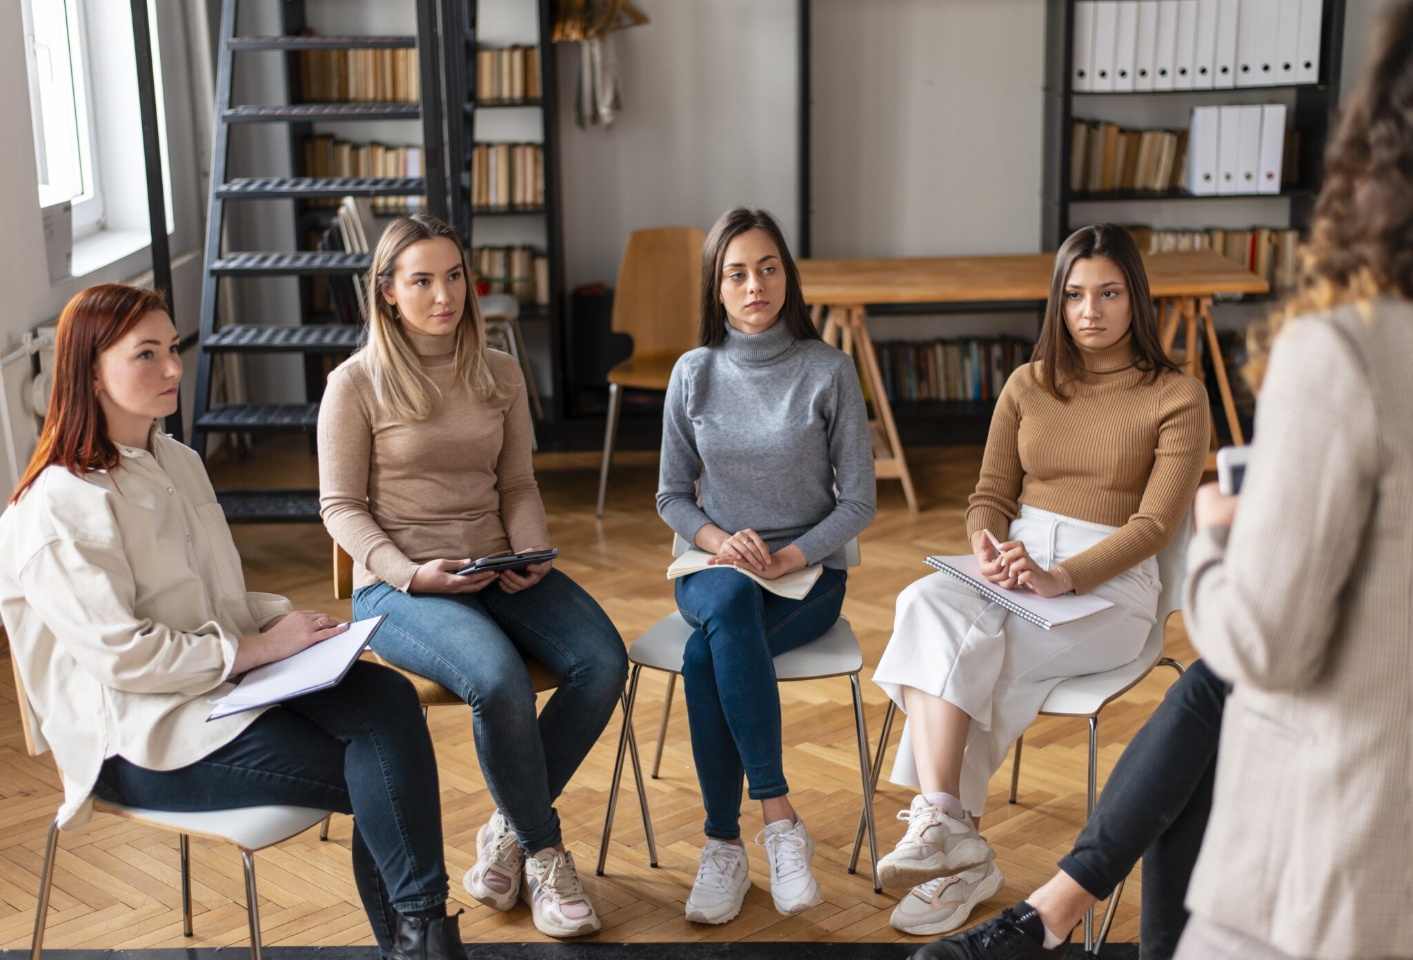
{"label": "curly brown hair of standing person at right edge", "polygon": [[1260,387],[1287,320],[1386,294],[1413,299],[1413,0],[1390,4],[1325,151],[1325,182],[1289,302],[1248,332]]}

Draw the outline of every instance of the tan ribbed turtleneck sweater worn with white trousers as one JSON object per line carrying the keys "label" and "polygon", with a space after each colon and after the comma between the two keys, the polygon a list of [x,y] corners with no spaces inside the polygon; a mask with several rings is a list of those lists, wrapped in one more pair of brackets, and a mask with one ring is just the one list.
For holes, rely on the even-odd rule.
{"label": "tan ribbed turtleneck sweater worn with white trousers", "polygon": [[1029,504],[1091,524],[1118,527],[1060,563],[1077,593],[1092,590],[1156,555],[1193,504],[1207,462],[1207,390],[1184,373],[1153,383],[1133,366],[1129,337],[1084,352],[1084,381],[1067,401],[1019,367],[996,401],[966,534],[1005,541]]}

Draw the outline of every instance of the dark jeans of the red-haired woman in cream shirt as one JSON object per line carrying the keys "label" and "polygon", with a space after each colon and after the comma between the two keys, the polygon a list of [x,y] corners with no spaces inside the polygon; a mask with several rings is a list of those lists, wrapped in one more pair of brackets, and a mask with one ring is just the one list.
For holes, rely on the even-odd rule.
{"label": "dark jeans of the red-haired woman in cream shirt", "polygon": [[95,792],[153,810],[291,805],[352,813],[353,880],[386,956],[401,913],[447,901],[437,758],[413,685],[357,662],[328,690],[287,700],[195,764],[112,757]]}

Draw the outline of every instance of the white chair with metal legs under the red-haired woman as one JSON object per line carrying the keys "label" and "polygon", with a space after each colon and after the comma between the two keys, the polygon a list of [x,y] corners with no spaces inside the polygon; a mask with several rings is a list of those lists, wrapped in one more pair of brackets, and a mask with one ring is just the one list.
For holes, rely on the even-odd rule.
{"label": "white chair with metal legs under the red-haired woman", "polygon": [[[20,678],[20,664],[11,655],[14,685],[20,700],[20,721],[24,728],[24,745],[31,757],[49,751],[49,744],[40,730],[40,719],[34,713]],[[146,810],[122,803],[95,800],[93,809],[113,813],[129,820],[147,823],[177,834],[181,857],[181,926],[191,936],[191,837],[211,837],[236,844],[246,870],[246,911],[250,920],[250,956],[261,960],[260,950],[260,898],[256,892],[254,853],[283,843],[304,833],[329,815],[308,806],[246,806],[230,810],[202,810],[199,813],[172,813],[167,810]],[[30,942],[30,960],[40,960],[44,953],[44,928],[49,913],[49,888],[54,885],[54,856],[59,846],[59,820],[49,824],[49,837],[44,846],[44,868],[40,872],[40,896],[34,911],[34,939]]]}

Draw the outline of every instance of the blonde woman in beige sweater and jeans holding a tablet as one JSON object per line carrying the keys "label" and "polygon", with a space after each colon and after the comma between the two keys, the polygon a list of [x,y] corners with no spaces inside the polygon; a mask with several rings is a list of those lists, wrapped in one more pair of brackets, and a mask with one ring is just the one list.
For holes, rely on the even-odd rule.
{"label": "blonde woman in beige sweater and jeans holding a tablet", "polygon": [[[468,272],[435,217],[383,232],[367,344],[329,376],[319,408],[321,512],[355,562],[355,616],[387,616],[379,655],[471,704],[497,809],[466,891],[499,911],[524,898],[543,933],[579,936],[599,919],[554,800],[608,724],[627,655],[603,610],[551,563],[456,573],[550,545],[524,381],[486,349]],[[526,656],[560,679],[538,717]]]}

